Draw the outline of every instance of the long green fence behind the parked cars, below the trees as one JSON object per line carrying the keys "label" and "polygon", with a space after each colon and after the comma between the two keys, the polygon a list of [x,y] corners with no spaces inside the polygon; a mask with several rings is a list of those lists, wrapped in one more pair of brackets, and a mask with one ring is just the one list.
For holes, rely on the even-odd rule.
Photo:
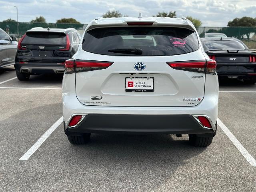
{"label": "long green fence behind the parked cars, below the trees", "polygon": [[[25,32],[33,27],[43,28],[75,28],[81,34],[87,24],[72,23],[25,23],[25,22],[0,22],[0,28],[9,35],[21,37]],[[224,33],[228,37],[234,37],[242,40],[248,48],[256,48],[256,27],[197,27],[200,37],[204,37],[204,33],[217,32]]]}

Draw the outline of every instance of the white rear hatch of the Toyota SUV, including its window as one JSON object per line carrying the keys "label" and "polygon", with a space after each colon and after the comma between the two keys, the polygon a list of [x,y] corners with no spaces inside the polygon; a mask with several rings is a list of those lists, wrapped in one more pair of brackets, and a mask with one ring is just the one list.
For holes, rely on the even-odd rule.
{"label": "white rear hatch of the Toyota SUV, including its window", "polygon": [[[75,60],[76,96],[82,104],[195,106],[204,98],[205,72],[174,69],[166,63],[205,62],[196,32],[159,27],[94,29],[87,32],[82,49]],[[111,65],[100,69],[95,62]]]}

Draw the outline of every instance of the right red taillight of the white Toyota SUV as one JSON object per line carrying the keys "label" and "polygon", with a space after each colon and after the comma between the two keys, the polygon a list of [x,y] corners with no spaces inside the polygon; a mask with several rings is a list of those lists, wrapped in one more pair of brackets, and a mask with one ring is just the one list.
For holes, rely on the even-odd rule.
{"label": "right red taillight of the white Toyota SUV", "polygon": [[216,74],[216,61],[212,59],[166,63],[177,70]]}

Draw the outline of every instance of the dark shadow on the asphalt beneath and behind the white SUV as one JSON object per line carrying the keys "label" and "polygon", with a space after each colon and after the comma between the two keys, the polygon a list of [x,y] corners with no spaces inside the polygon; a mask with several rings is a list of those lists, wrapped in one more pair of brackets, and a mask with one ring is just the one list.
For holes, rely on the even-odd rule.
{"label": "dark shadow on the asphalt beneath and behind the white SUV", "polygon": [[183,140],[174,137],[92,134],[87,145],[66,146],[61,158],[65,166],[76,170],[78,178],[84,172],[91,174],[88,189],[95,188],[97,180],[102,187],[111,184],[115,191],[155,191],[173,177],[178,167],[206,150],[190,146],[187,136]]}

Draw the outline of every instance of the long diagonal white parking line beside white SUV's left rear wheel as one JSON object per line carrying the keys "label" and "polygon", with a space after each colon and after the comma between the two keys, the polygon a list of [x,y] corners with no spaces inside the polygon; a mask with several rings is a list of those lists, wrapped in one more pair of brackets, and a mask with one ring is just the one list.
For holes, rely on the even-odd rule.
{"label": "long diagonal white parking line beside white SUV's left rear wheel", "polygon": [[54,132],[54,130],[63,122],[63,116],[58,119],[38,140],[30,149],[19,159],[26,161],[36,150],[43,144],[43,142]]}

